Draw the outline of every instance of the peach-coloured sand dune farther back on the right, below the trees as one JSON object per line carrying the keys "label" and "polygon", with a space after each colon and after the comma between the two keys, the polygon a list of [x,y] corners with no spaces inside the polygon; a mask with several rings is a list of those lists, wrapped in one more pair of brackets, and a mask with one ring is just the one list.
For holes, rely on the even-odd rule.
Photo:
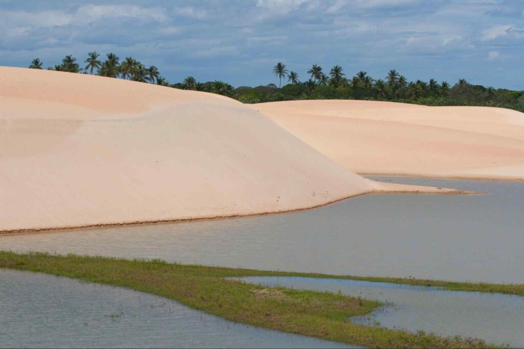
{"label": "peach-coloured sand dune farther back on the right, below the trees", "polygon": [[524,114],[362,100],[253,105],[359,174],[524,179]]}

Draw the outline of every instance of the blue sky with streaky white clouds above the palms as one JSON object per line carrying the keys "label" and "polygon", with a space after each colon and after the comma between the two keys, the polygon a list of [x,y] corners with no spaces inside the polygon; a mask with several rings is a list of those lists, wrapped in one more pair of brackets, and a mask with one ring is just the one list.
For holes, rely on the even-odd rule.
{"label": "blue sky with streaky white clouds above the palms", "polygon": [[191,75],[238,86],[299,79],[312,64],[352,77],[524,89],[522,0],[0,0],[0,65],[44,67],[89,51],[156,65],[169,82]]}

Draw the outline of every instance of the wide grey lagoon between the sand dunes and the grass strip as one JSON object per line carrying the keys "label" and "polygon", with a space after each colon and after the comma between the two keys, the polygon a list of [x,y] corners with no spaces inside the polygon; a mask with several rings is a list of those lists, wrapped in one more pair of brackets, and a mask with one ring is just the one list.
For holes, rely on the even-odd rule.
{"label": "wide grey lagoon between the sand dunes and the grass strip", "polygon": [[313,210],[0,236],[15,251],[331,274],[524,282],[524,183],[378,178],[488,195],[364,195]]}

